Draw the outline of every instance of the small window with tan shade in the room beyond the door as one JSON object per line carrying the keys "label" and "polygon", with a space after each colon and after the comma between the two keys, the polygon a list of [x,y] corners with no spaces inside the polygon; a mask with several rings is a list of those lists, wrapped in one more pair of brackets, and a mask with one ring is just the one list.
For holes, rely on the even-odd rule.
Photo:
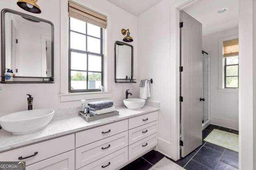
{"label": "small window with tan shade in the room beyond the door", "polygon": [[223,41],[224,88],[238,88],[239,80],[239,44],[238,38]]}

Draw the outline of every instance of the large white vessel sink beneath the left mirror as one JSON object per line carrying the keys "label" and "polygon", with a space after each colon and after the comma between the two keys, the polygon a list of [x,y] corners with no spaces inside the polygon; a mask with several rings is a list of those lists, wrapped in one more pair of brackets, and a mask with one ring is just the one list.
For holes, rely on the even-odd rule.
{"label": "large white vessel sink beneath the left mirror", "polygon": [[52,109],[35,109],[0,117],[0,125],[13,135],[24,135],[43,129],[54,115]]}

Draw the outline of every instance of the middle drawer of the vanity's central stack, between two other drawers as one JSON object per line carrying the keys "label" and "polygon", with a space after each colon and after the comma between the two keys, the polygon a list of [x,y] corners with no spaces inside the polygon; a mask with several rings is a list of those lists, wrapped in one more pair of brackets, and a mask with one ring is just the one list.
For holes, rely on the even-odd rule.
{"label": "middle drawer of the vanity's central stack, between two other drawers", "polygon": [[128,146],[128,131],[76,149],[76,168],[81,168]]}

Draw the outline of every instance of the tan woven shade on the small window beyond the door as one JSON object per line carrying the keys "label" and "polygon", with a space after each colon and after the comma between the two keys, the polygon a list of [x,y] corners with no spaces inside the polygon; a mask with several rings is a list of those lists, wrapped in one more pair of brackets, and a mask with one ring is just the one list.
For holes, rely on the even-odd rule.
{"label": "tan woven shade on the small window beyond the door", "polygon": [[223,57],[232,57],[239,54],[238,38],[223,41]]}

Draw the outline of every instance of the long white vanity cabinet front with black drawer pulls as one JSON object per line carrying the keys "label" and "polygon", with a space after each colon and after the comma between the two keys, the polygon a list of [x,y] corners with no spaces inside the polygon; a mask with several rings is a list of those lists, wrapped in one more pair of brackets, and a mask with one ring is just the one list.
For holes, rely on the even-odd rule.
{"label": "long white vanity cabinet front with black drawer pulls", "polygon": [[158,111],[8,150],[0,161],[26,161],[27,170],[117,170],[157,143]]}

